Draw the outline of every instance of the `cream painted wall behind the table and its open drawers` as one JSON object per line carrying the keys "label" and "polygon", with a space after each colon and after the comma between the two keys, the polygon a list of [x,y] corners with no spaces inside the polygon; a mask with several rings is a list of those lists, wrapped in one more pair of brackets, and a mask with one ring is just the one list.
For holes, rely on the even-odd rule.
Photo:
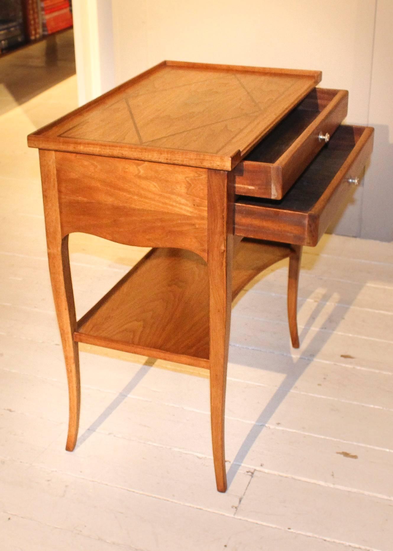
{"label": "cream painted wall behind the table and its open drawers", "polygon": [[320,69],[320,85],[349,90],[346,122],[376,127],[375,152],[335,231],[393,239],[391,0],[106,2],[117,84],[174,59]]}

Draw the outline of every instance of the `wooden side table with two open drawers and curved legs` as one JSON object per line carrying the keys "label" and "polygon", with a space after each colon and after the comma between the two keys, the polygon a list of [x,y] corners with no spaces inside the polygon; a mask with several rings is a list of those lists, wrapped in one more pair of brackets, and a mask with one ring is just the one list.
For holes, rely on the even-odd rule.
{"label": "wooden side table with two open drawers and curved legs", "polygon": [[[293,247],[316,244],[372,150],[372,129],[337,129],[347,93],[315,89],[320,78],[167,61],[30,134],[67,368],[67,450],[78,434],[78,342],[203,367],[217,489],[226,490],[232,299]],[[154,247],[79,321],[74,231]]]}

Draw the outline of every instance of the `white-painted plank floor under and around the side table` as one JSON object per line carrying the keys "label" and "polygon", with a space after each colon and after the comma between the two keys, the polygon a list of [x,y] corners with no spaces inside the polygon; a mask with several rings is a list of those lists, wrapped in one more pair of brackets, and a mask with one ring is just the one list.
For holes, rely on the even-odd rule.
{"label": "white-painted plank floor under and around the side table", "polygon": [[[299,350],[286,325],[286,262],[241,296],[226,494],[215,490],[209,381],[196,369],[81,347],[81,429],[68,453],[38,155],[26,134],[76,105],[75,77],[21,106],[0,88],[0,101],[0,548],[391,551],[393,244],[329,236],[305,250]],[[141,254],[81,235],[71,246],[79,314]]]}

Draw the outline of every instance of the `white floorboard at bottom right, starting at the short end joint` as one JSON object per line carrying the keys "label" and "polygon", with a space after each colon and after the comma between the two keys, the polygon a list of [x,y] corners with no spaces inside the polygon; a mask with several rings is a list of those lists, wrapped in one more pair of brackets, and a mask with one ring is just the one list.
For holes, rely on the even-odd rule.
{"label": "white floorboard at bottom right, starting at the short end joint", "polygon": [[390,551],[393,506],[379,498],[255,473],[237,515]]}

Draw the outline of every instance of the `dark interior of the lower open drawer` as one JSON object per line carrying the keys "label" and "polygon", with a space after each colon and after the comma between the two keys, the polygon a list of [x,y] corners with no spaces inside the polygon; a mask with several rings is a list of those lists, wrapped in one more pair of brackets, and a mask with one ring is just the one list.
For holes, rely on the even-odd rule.
{"label": "dark interior of the lower open drawer", "polygon": [[276,210],[309,212],[334,179],[348,155],[362,136],[364,127],[342,125],[330,142],[321,149],[313,163],[303,172],[286,195],[275,199],[239,196],[237,202]]}

